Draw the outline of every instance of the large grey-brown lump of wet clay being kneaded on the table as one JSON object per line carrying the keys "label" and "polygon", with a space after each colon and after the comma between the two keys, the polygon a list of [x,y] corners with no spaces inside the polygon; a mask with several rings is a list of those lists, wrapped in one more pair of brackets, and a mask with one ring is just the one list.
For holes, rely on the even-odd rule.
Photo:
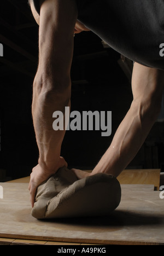
{"label": "large grey-brown lump of wet clay being kneaded on the table", "polygon": [[32,216],[37,219],[107,216],[119,206],[121,187],[116,177],[97,173],[78,180],[67,167],[42,183]]}

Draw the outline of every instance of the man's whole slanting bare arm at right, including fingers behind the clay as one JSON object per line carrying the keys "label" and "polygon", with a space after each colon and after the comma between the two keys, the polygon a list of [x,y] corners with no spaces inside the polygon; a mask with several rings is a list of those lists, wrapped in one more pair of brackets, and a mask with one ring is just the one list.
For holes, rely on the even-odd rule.
{"label": "man's whole slanting bare arm at right, including fingers behind the clay", "polygon": [[[90,175],[104,172],[117,177],[132,161],[159,115],[163,85],[164,71],[134,63],[130,110]],[[74,169],[74,172],[79,178],[89,175],[80,170]]]}

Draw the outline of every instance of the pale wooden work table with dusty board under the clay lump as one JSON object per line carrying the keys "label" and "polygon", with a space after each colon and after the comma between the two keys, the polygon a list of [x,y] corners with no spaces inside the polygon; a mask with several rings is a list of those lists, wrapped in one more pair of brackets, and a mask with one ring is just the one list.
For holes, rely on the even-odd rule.
{"label": "pale wooden work table with dusty board under the clay lump", "polygon": [[31,216],[29,177],[0,183],[0,245],[164,245],[160,170],[125,170],[122,197],[107,217],[37,220]]}

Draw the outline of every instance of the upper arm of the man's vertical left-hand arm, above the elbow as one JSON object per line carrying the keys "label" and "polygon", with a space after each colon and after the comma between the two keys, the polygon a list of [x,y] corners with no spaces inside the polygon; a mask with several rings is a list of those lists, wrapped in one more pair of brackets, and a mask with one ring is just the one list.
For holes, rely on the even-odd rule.
{"label": "upper arm of the man's vertical left-hand arm, above the elbow", "polygon": [[70,73],[77,13],[74,0],[45,0],[41,5],[38,69],[55,79]]}

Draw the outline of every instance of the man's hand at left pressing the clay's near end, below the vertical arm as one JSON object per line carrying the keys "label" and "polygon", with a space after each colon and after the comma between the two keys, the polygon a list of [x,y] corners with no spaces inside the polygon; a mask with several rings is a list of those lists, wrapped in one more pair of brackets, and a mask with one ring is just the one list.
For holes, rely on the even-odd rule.
{"label": "man's hand at left pressing the clay's near end, below the vertical arm", "polygon": [[39,164],[33,168],[32,173],[30,175],[30,183],[28,189],[30,190],[30,200],[32,207],[34,206],[35,196],[37,187],[49,179],[52,175],[54,175],[57,170],[63,166],[67,166],[67,162],[64,158],[60,157],[57,162],[56,169],[53,171],[44,170]]}

